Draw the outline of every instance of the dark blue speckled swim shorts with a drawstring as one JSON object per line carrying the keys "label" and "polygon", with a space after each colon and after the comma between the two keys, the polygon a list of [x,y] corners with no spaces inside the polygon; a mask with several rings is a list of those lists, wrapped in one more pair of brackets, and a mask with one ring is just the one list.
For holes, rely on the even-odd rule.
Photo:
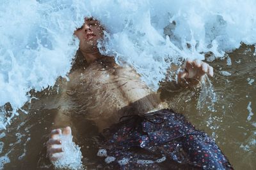
{"label": "dark blue speckled swim shorts with a drawstring", "polygon": [[109,169],[232,169],[213,139],[172,110],[123,117],[102,135]]}

